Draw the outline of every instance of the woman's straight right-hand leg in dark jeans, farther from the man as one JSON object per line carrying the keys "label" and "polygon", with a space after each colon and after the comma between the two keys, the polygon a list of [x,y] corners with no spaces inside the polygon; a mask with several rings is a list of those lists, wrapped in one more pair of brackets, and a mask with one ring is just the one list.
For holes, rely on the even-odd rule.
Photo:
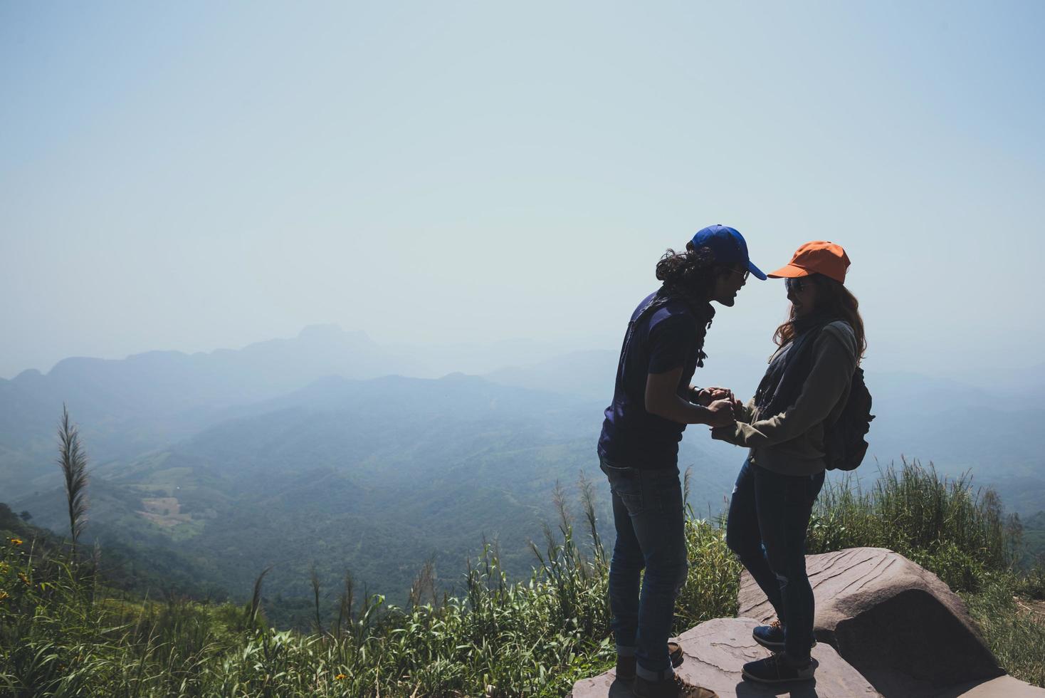
{"label": "woman's straight right-hand leg in dark jeans, farther from the man", "polygon": [[794,665],[809,661],[815,613],[806,574],[806,532],[823,473],[789,476],[756,471],[756,506],[769,566],[780,580],[785,653]]}

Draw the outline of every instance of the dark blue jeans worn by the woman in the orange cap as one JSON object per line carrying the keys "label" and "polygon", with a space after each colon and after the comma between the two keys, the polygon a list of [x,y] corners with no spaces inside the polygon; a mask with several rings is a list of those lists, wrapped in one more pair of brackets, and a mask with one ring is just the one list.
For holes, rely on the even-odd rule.
{"label": "dark blue jeans worn by the woman in the orange cap", "polygon": [[813,644],[813,587],[806,575],[806,530],[823,472],[782,475],[744,461],[729,501],[725,540],[784,624],[784,650],[804,664]]}

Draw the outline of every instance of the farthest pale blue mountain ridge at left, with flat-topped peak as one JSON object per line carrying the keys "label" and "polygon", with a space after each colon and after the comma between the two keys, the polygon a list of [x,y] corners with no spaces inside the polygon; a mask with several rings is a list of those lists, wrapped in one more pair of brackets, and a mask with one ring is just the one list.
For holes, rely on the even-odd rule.
{"label": "farthest pale blue mountain ridge at left, with flat-topped peak", "polygon": [[[39,457],[38,447],[51,449],[54,411],[55,406],[61,411],[63,402],[80,424],[96,461],[127,458],[217,423],[234,405],[270,399],[322,376],[444,375],[452,371],[443,370],[447,351],[389,349],[364,332],[318,325],[294,339],[259,342],[240,350],[153,351],[120,360],[76,357],[57,363],[46,375],[23,371],[9,380],[0,379],[0,448],[11,451],[0,451],[3,466],[22,463],[28,468],[20,473],[24,476],[4,485],[13,488],[8,492],[24,492],[34,487],[38,476],[52,474],[38,472],[30,465],[32,459],[23,458],[29,452]],[[548,348],[534,343],[506,353],[517,359],[528,353],[539,356],[541,351]]]}

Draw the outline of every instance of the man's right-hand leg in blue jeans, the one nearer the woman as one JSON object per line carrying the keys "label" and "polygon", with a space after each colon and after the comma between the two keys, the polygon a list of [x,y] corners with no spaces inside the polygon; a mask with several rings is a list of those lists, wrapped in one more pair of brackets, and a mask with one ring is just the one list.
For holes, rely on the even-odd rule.
{"label": "man's right-hand leg in blue jeans, the one nearer the woman", "polygon": [[686,514],[678,469],[641,470],[642,502],[629,507],[631,526],[643,551],[646,576],[638,604],[635,673],[648,681],[673,674],[668,637],[675,599],[686,583]]}

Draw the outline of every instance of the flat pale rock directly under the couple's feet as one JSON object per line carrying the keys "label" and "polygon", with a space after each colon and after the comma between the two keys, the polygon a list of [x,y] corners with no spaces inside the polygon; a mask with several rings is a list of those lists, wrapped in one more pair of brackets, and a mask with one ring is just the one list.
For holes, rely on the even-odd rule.
{"label": "flat pale rock directly under the couple's feet", "polygon": [[[714,690],[720,698],[739,696],[780,696],[789,693],[797,698],[857,698],[880,694],[849,666],[834,648],[818,645],[813,649],[817,661],[816,676],[811,681],[791,685],[767,685],[747,681],[741,669],[747,661],[769,656],[768,650],[751,638],[758,623],[751,619],[716,619],[701,623],[678,638],[686,660],[677,669],[692,683]],[[629,685],[614,680],[613,671],[578,681],[573,698],[631,698]]]}

